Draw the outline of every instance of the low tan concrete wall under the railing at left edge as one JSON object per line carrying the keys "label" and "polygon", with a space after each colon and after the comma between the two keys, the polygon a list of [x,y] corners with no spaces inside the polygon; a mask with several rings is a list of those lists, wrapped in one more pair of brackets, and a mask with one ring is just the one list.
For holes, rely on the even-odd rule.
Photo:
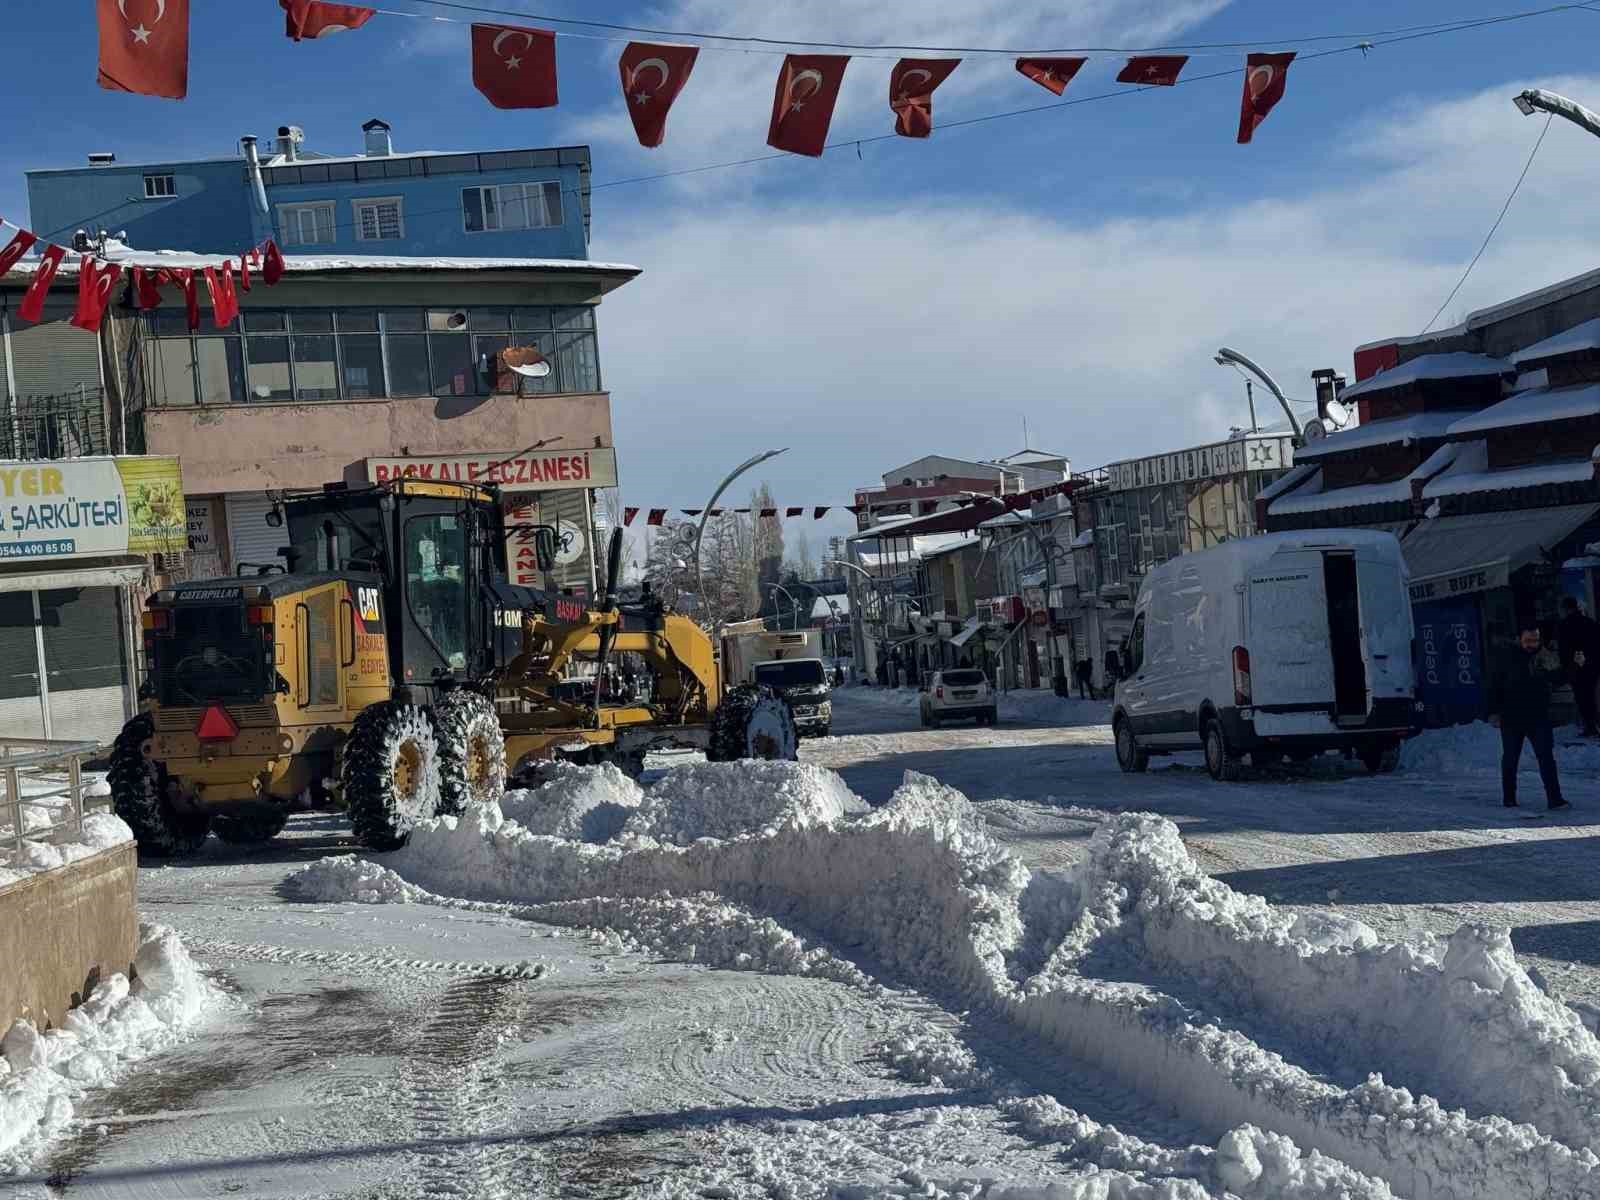
{"label": "low tan concrete wall under the railing at left edge", "polygon": [[133,843],[0,886],[0,1030],[59,1026],[93,981],[131,973],[139,941]]}

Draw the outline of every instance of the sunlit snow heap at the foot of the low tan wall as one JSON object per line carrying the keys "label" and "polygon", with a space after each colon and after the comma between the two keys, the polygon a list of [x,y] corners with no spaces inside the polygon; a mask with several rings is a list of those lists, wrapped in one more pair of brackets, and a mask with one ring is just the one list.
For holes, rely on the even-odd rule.
{"label": "sunlit snow heap at the foot of the low tan wall", "polygon": [[171,1046],[219,1003],[176,933],[144,925],[139,939],[131,984],[114,974],[59,1029],[18,1021],[0,1040],[0,1171],[24,1170],[69,1125],[74,1101]]}

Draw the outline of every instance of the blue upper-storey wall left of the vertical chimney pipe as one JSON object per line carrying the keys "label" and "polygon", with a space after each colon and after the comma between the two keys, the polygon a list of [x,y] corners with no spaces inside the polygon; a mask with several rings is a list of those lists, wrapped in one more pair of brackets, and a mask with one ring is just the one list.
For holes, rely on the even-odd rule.
{"label": "blue upper-storey wall left of the vertical chimney pipe", "polygon": [[[144,198],[144,176],[171,174],[176,195]],[[67,245],[74,230],[128,230],[139,250],[237,254],[256,238],[243,158],[80,166],[27,173],[29,227]]]}

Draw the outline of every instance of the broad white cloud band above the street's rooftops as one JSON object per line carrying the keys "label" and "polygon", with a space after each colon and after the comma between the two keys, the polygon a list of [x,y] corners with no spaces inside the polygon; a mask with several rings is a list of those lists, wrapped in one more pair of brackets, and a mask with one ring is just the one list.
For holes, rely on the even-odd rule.
{"label": "broad white cloud band above the street's rooftops", "polygon": [[[1342,176],[1235,208],[746,203],[600,226],[597,258],[645,269],[602,314],[629,502],[694,504],[717,464],[768,445],[794,446],[766,469],[779,502],[843,502],[920,453],[1014,450],[1024,413],[1080,467],[1194,445],[1245,421],[1222,344],[1309,397],[1312,368],[1349,371],[1450,291],[1538,133],[1510,106],[1522,86],[1330,131],[1355,147]],[[1587,134],[1550,131],[1446,322],[1594,266],[1595,162]]]}

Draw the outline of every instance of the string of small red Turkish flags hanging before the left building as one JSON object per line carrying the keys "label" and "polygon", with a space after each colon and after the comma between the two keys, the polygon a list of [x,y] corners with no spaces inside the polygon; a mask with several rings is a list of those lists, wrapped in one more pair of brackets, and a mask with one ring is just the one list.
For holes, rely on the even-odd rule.
{"label": "string of small red Turkish flags hanging before the left building", "polygon": [[[0,229],[14,229],[16,234],[0,250],[0,277],[5,277],[22,256],[38,243],[38,235],[10,221],[0,219]],[[67,256],[66,246],[50,242],[40,251],[38,267],[34,270],[34,282],[22,293],[18,315],[26,322],[38,322],[45,315],[45,298],[50,294],[56,274]],[[258,246],[251,246],[238,256],[238,283],[234,283],[234,261],[224,259],[205,267],[133,267],[128,272],[128,304],[141,309],[154,309],[162,302],[162,286],[171,285],[184,294],[184,310],[189,328],[200,328],[200,296],[198,285],[203,280],[206,294],[211,298],[211,318],[216,328],[224,330],[238,318],[238,293],[250,291],[250,269],[261,270],[261,282],[269,288],[283,277],[283,254],[277,242],[270,237]],[[110,293],[123,277],[123,264],[104,259],[98,254],[82,254],[78,258],[78,307],[70,323],[80,330],[94,333],[99,330]]]}

